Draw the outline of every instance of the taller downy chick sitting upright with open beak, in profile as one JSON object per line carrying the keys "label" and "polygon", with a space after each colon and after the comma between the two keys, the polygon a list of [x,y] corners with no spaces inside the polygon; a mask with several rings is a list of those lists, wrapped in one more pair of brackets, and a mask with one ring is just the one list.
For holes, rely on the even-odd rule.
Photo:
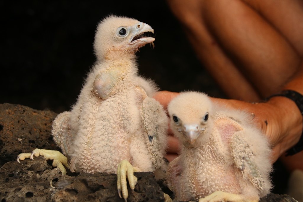
{"label": "taller downy chick sitting upright with open beak, in profile", "polygon": [[[72,158],[72,172],[116,173],[126,160],[121,169],[130,170],[118,170],[118,192],[122,189],[125,199],[126,172],[132,189],[136,183],[132,166],[135,171],[165,169],[168,118],[151,98],[155,84],[138,76],[136,64],[135,52],[155,40],[146,32],[154,30],[133,18],[112,15],[100,22],[94,41],[97,61],[72,110],[58,114],[52,125],[55,142]],[[17,160],[34,155],[55,159],[53,166],[66,173],[62,163],[67,166],[67,158],[58,151],[35,149]]]}

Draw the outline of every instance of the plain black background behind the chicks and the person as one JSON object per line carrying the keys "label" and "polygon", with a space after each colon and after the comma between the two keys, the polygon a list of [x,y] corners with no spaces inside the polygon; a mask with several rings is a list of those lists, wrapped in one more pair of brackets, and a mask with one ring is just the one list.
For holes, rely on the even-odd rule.
{"label": "plain black background behind the chicks and the person", "polygon": [[[0,11],[0,103],[69,110],[95,62],[96,25],[109,14],[136,18],[155,30],[155,48],[147,45],[137,55],[140,74],[161,90],[225,98],[165,1],[0,1]],[[273,191],[282,193],[288,175],[277,164]]]}

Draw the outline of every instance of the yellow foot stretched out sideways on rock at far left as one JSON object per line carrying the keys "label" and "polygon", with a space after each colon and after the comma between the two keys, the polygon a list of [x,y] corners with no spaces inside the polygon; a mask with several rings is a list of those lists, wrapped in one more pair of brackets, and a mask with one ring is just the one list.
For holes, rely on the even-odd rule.
{"label": "yellow foot stretched out sideways on rock at far left", "polygon": [[[26,158],[34,160],[33,157],[44,156],[46,160],[53,160],[53,167],[58,167],[62,174],[66,174],[65,167],[68,167],[67,157],[65,157],[60,151],[47,150],[47,149],[34,149],[32,153],[22,153],[17,157],[17,161],[20,163],[20,160],[23,161]],[[64,167],[64,166],[65,167]]]}

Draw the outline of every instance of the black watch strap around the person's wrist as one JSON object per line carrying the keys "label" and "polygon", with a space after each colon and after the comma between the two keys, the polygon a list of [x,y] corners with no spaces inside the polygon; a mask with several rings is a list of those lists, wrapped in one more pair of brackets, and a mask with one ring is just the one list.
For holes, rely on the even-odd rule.
{"label": "black watch strap around the person's wrist", "polygon": [[[296,103],[296,105],[298,106],[301,115],[303,116],[303,95],[301,95],[300,93],[296,92],[296,91],[292,91],[292,90],[284,90],[279,94],[273,94],[271,96],[269,96],[268,98],[266,98],[266,100],[269,100],[272,97],[275,96],[284,96],[286,98],[291,99],[292,101],[294,101]],[[294,155],[297,154],[298,152],[303,150],[303,132],[301,134],[300,140],[297,144],[295,144],[295,146],[291,147],[289,150],[286,151],[286,156],[289,155]]]}

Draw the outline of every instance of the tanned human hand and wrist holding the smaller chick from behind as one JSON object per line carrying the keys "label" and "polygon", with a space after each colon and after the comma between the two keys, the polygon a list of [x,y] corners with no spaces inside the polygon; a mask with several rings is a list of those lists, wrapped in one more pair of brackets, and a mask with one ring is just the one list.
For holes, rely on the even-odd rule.
{"label": "tanned human hand and wrist holding the smaller chick from behind", "polygon": [[[154,98],[158,100],[165,109],[171,99],[178,93],[159,91]],[[285,151],[296,144],[302,134],[302,116],[296,104],[284,97],[273,97],[268,102],[249,103],[239,100],[211,98],[212,101],[225,105],[226,107],[245,110],[254,116],[255,123],[268,137],[272,147],[272,162],[275,162]],[[172,161],[177,157],[178,140],[172,136],[168,137],[168,153],[166,158]]]}

